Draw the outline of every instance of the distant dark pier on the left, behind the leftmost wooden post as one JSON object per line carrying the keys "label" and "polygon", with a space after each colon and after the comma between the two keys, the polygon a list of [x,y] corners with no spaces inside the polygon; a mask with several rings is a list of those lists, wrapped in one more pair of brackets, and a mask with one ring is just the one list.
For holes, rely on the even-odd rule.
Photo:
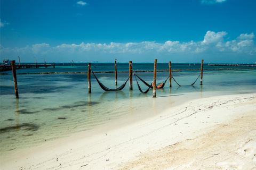
{"label": "distant dark pier on the left, behind the leftmost wooden post", "polygon": [[[16,69],[27,69],[27,68],[39,68],[39,67],[53,67],[55,68],[55,63],[53,64],[20,64],[15,66]],[[1,72],[12,70],[12,65],[0,65]]]}

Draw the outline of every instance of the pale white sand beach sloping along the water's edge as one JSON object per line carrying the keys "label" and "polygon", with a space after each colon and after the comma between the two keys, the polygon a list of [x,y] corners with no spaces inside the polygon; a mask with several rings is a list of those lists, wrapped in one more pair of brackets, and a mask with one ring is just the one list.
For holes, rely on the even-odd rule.
{"label": "pale white sand beach sloping along the water's edge", "polygon": [[[160,98],[156,98],[160,100]],[[1,158],[1,169],[256,169],[256,94],[190,101]]]}

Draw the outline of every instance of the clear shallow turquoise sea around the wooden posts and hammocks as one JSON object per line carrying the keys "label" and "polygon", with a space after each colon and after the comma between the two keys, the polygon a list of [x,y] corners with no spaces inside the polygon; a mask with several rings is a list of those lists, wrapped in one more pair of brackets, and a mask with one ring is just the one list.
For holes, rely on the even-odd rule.
{"label": "clear shallow turquoise sea around the wooden posts and hammocks", "polygon": [[[94,67],[95,65],[95,67]],[[172,69],[199,69],[201,64],[172,64]],[[204,65],[204,69],[219,69]],[[222,67],[231,68],[231,67]],[[237,67],[236,67],[237,68]],[[94,72],[114,71],[114,64],[92,64]],[[158,70],[169,69],[168,64],[157,64]],[[246,69],[246,68],[243,68]],[[128,64],[118,64],[118,71],[128,71]],[[133,64],[133,70],[154,70],[154,64]],[[55,69],[19,69],[17,73],[86,72],[86,64],[62,66]],[[67,137],[98,126],[111,126],[111,122],[124,120],[129,123],[139,118],[154,116],[164,109],[190,99],[219,95],[235,95],[256,92],[255,70],[204,70],[203,86],[198,79],[194,86],[179,87],[169,80],[164,89],[141,94],[133,77],[133,90],[129,82],[122,91],[103,91],[92,76],[92,93],[88,93],[87,74],[18,74],[19,99],[15,99],[11,71],[0,75],[1,155],[12,154],[20,149],[42,145],[47,141]],[[193,83],[199,70],[172,72],[182,85]],[[97,78],[108,88],[116,88],[115,73],[96,73]],[[137,75],[150,83],[153,72],[138,72]],[[164,81],[167,72],[157,72],[157,82]],[[118,73],[121,86],[129,73]],[[142,82],[143,91],[147,89]]]}

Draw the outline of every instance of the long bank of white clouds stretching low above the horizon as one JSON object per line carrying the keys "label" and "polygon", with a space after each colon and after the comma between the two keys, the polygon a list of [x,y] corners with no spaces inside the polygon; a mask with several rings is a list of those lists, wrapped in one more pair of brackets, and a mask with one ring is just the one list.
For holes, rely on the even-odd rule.
{"label": "long bank of white clouds stretching low above the horizon", "polygon": [[[84,58],[85,56],[98,57],[99,61],[105,61],[109,56],[134,57],[135,60],[139,56],[155,57],[155,56],[210,56],[213,58],[219,54],[229,54],[230,56],[245,55],[255,56],[256,46],[254,45],[253,33],[241,34],[237,39],[225,41],[223,37],[227,32],[207,31],[202,41],[188,41],[181,43],[180,41],[168,40],[164,43],[156,43],[155,41],[142,41],[141,43],[81,43],[81,44],[61,44],[51,47],[49,44],[34,44],[22,48],[4,48],[1,46],[1,55],[18,56],[26,55],[35,56],[54,56],[56,58]],[[256,56],[255,56],[256,57]],[[60,59],[62,60],[62,59]],[[81,59],[82,60],[82,59]],[[95,60],[97,61],[97,59]],[[55,61],[53,61],[55,62]]]}

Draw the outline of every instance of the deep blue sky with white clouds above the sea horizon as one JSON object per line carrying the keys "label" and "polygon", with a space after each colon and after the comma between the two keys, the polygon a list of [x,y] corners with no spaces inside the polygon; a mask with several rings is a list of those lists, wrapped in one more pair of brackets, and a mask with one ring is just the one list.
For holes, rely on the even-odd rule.
{"label": "deep blue sky with white clouds above the sea horizon", "polygon": [[255,0],[1,0],[1,61],[256,62]]}

